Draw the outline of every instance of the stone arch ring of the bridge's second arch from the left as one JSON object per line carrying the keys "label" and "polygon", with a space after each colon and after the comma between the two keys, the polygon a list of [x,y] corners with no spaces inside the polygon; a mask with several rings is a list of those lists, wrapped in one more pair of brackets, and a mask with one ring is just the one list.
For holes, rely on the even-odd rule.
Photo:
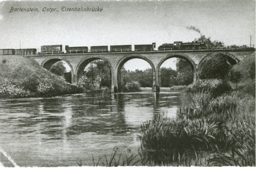
{"label": "stone arch ring of the bridge's second arch from the left", "polygon": [[76,83],[79,82],[79,79],[84,76],[84,68],[90,63],[93,62],[94,60],[104,60],[105,62],[108,63],[108,66],[110,68],[111,71],[111,79],[113,76],[113,67],[111,65],[111,63],[108,61],[108,59],[104,58],[104,57],[97,57],[97,56],[89,56],[86,57],[84,59],[82,59],[79,64],[76,67],[76,71],[74,74],[74,79],[76,80]]}

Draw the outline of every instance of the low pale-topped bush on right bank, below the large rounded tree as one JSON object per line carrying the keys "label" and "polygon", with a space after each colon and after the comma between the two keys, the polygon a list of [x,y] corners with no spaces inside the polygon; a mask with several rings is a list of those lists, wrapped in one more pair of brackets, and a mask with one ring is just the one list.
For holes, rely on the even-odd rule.
{"label": "low pale-topped bush on right bank, below the large rounded tree", "polygon": [[208,91],[212,95],[221,95],[232,88],[227,81],[219,79],[198,80],[187,88],[187,92]]}

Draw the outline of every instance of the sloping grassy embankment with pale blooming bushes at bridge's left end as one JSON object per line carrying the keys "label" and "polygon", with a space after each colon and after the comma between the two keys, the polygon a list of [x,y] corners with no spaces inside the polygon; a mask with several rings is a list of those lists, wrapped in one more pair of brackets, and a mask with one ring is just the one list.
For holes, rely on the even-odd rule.
{"label": "sloping grassy embankment with pale blooming bushes at bridge's left end", "polygon": [[80,93],[71,85],[25,56],[0,56],[0,98],[55,96]]}

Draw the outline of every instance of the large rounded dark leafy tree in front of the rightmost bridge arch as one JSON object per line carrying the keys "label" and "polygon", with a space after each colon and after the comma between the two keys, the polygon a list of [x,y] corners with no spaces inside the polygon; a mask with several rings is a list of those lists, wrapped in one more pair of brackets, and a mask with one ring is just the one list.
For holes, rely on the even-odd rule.
{"label": "large rounded dark leafy tree in front of the rightmost bridge arch", "polygon": [[200,70],[201,79],[225,79],[230,70],[228,56],[221,53],[213,53],[203,62]]}

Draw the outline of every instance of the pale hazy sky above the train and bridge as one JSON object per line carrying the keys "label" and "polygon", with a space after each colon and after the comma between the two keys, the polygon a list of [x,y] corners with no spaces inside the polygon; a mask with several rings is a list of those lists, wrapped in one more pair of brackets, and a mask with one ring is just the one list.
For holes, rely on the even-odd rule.
{"label": "pale hazy sky above the train and bridge", "polygon": [[255,0],[0,0],[0,49],[41,45],[132,45],[134,49],[133,45],[152,42],[156,47],[191,42],[201,34],[225,45],[250,45],[250,36],[255,44],[255,25]]}

